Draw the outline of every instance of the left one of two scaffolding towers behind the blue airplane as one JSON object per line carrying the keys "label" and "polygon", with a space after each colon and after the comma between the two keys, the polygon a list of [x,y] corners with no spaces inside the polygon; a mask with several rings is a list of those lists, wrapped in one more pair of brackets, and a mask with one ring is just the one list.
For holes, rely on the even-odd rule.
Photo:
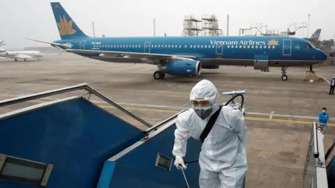
{"label": "left one of two scaffolding towers behind the blue airplane", "polygon": [[201,20],[195,19],[194,15],[184,17],[184,29],[182,36],[199,36],[203,29],[200,29]]}

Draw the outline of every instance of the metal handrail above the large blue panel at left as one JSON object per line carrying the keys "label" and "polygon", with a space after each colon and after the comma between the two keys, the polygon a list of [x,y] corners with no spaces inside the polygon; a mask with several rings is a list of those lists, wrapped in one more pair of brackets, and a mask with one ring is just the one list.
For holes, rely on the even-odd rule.
{"label": "metal handrail above the large blue panel at left", "polygon": [[87,85],[86,83],[78,84],[76,86],[69,86],[69,87],[66,87],[66,88],[59,88],[59,89],[55,89],[55,90],[51,90],[51,91],[44,91],[44,92],[40,92],[40,93],[34,93],[34,94],[31,94],[31,95],[25,95],[25,96],[22,96],[22,97],[14,97],[14,98],[11,98],[11,99],[8,99],[8,100],[1,100],[0,101],[0,107],[5,107],[5,106],[11,105],[11,104],[17,104],[17,103],[20,103],[20,102],[27,102],[29,100],[36,100],[36,99],[43,98],[43,97],[49,97],[51,95],[58,95],[58,94],[61,94],[61,93],[68,93],[70,91],[77,91],[77,90],[82,90],[82,89],[88,91],[89,93],[92,93],[92,94],[96,95],[97,97],[101,98],[102,100],[104,100],[108,104],[111,104],[112,106],[114,106],[117,109],[123,111],[124,113],[128,114],[132,118],[135,118],[135,120],[138,120],[140,123],[143,123],[144,125],[147,125],[147,127],[152,127],[152,125],[150,123],[147,123],[145,120],[142,120],[141,118],[135,116],[135,114],[131,113],[130,111],[127,111],[123,107],[119,106],[119,104],[116,104],[115,102],[112,102],[112,100],[109,100],[103,94],[99,93],[94,88]]}

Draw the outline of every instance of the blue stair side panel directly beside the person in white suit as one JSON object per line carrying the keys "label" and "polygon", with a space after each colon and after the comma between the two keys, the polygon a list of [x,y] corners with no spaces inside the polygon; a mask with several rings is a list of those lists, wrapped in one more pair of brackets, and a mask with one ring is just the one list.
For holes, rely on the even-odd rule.
{"label": "blue stair side panel directly beside the person in white suit", "polygon": [[[117,159],[117,166],[112,174],[113,178],[112,182],[110,182],[110,187],[119,187],[119,185],[137,188],[186,187],[182,172],[173,166],[173,162],[171,171],[155,166],[158,152],[174,160],[172,149],[175,129],[175,124],[171,125],[168,129]],[[198,159],[200,150],[201,142],[189,139],[184,160],[189,162]],[[105,168],[107,166],[104,166]],[[199,187],[200,166],[198,162],[188,164],[185,173],[190,187]],[[153,186],[153,184],[159,184],[159,186]]]}

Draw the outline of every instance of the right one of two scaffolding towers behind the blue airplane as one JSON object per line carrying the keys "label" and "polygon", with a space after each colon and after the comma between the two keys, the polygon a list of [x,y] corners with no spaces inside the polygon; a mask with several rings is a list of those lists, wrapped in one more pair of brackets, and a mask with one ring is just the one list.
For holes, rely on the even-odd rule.
{"label": "right one of two scaffolding towers behind the blue airplane", "polygon": [[216,15],[202,15],[203,36],[222,36],[222,29],[218,29]]}

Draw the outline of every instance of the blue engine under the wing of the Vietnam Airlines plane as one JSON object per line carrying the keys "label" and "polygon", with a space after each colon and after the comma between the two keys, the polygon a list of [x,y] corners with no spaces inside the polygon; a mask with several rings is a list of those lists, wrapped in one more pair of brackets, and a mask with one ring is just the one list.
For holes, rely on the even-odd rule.
{"label": "blue engine under the wing of the Vietnam Airlines plane", "polygon": [[165,72],[174,76],[198,76],[201,73],[201,62],[195,60],[172,61],[165,65]]}

